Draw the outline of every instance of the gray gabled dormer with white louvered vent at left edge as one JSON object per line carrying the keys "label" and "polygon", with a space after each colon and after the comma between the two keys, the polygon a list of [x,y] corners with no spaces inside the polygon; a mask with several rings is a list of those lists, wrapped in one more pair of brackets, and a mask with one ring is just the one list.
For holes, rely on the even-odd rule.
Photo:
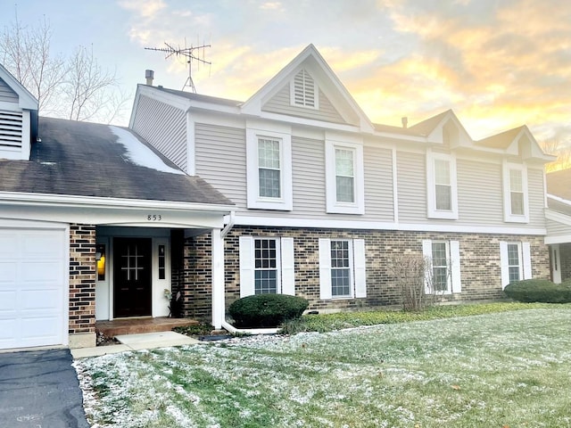
{"label": "gray gabled dormer with white louvered vent at left edge", "polygon": [[0,159],[29,161],[37,99],[0,65]]}

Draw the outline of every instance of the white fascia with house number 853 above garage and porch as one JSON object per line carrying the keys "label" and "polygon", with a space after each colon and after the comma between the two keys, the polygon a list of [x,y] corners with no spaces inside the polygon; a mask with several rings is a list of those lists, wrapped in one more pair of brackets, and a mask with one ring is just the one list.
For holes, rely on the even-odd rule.
{"label": "white fascia with house number 853 above garage and porch", "polygon": [[96,226],[222,228],[232,205],[0,192],[2,218]]}

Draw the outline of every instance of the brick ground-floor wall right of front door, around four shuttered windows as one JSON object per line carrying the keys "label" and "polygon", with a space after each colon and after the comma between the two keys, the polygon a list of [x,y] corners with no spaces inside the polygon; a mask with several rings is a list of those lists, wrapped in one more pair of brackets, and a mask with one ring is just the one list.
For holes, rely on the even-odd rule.
{"label": "brick ground-floor wall right of front door, around four shuttered windows", "polygon": [[[445,296],[446,300],[476,301],[505,297],[501,289],[501,241],[530,243],[533,276],[550,277],[549,250],[542,236],[236,226],[225,238],[227,308],[240,297],[238,240],[241,235],[294,238],[295,293],[310,300],[310,309],[358,309],[400,304],[400,291],[386,267],[392,257],[403,252],[421,256],[424,239],[459,241],[462,292]],[[319,299],[319,238],[365,240],[367,298]],[[190,281],[187,284],[192,284],[187,285],[187,313],[189,316],[206,317],[211,313],[210,235],[192,238],[187,243],[186,278]]]}

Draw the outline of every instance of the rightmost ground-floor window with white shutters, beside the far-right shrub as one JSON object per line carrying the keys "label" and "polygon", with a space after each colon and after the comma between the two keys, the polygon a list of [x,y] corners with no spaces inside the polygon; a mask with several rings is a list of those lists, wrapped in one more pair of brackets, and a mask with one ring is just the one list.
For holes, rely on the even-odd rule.
{"label": "rightmost ground-floor window with white shutters, beside the far-right shrub", "polygon": [[530,243],[501,242],[501,289],[506,285],[532,277]]}

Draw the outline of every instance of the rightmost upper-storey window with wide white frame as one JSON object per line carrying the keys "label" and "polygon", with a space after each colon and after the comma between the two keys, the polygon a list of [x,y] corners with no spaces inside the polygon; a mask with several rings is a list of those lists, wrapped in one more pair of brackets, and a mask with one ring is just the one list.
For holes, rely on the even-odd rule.
{"label": "rightmost upper-storey window with wide white frame", "polygon": [[503,162],[503,211],[506,222],[529,222],[525,165]]}

